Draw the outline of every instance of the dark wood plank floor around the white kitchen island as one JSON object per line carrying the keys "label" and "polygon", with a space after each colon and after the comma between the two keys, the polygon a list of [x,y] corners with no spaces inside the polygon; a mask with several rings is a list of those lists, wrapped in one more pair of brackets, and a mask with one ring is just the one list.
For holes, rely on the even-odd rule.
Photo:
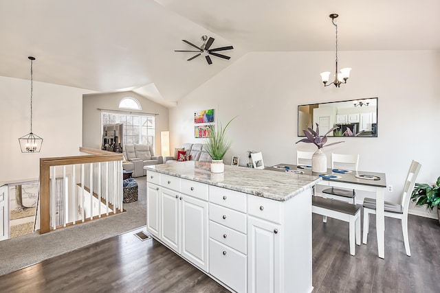
{"label": "dark wood plank floor around the white kitchen island", "polygon": [[[385,259],[375,221],[349,254],[348,223],[314,215],[314,292],[440,292],[440,226],[410,215],[411,257],[399,220],[386,218]],[[0,292],[228,292],[153,239],[127,233],[0,277]]]}

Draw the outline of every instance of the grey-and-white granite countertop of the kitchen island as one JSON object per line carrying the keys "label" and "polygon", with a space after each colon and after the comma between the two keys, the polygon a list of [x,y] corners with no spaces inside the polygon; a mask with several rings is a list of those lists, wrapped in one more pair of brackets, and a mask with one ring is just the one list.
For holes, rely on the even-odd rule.
{"label": "grey-and-white granite countertop of the kitchen island", "polygon": [[230,165],[225,165],[224,173],[214,174],[210,172],[210,163],[195,161],[151,165],[144,169],[278,201],[289,200],[322,180],[314,175]]}

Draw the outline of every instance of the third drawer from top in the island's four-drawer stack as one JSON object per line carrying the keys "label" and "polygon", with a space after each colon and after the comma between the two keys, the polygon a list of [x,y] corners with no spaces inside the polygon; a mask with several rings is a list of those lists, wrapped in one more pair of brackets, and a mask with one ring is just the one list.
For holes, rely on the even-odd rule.
{"label": "third drawer from top in the island's four-drawer stack", "polygon": [[217,240],[221,244],[225,244],[230,248],[239,250],[240,253],[246,254],[247,242],[246,235],[235,231],[227,226],[209,221],[209,237]]}

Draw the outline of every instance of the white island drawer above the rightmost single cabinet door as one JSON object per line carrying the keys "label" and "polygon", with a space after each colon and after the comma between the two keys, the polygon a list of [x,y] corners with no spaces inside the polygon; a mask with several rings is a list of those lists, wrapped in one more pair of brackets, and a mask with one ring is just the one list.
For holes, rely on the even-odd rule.
{"label": "white island drawer above the rightmost single cabinet door", "polygon": [[281,224],[282,202],[248,195],[248,214]]}

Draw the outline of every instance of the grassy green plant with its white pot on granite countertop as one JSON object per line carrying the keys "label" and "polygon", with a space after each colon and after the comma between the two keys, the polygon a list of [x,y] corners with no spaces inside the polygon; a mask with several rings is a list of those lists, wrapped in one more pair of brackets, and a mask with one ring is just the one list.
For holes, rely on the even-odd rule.
{"label": "grassy green plant with its white pot on granite countertop", "polygon": [[226,138],[226,130],[228,129],[229,124],[236,117],[230,119],[230,121],[222,126],[221,122],[217,123],[217,129],[214,126],[210,125],[210,134],[208,139],[205,141],[206,152],[211,156],[211,172],[212,173],[223,173],[225,171],[225,165],[223,164],[223,157],[226,152],[231,147],[231,142]]}

